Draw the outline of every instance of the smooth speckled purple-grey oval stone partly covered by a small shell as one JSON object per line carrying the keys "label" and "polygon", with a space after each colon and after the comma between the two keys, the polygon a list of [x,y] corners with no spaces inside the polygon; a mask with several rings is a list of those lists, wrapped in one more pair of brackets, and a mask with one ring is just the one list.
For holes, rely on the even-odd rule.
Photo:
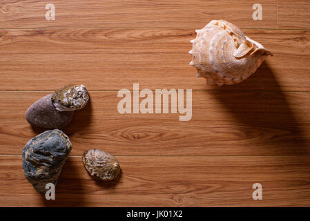
{"label": "smooth speckled purple-grey oval stone partly covered by a small shell", "polygon": [[26,119],[32,126],[55,129],[64,128],[73,119],[74,111],[57,111],[52,104],[52,94],[33,103],[26,112]]}

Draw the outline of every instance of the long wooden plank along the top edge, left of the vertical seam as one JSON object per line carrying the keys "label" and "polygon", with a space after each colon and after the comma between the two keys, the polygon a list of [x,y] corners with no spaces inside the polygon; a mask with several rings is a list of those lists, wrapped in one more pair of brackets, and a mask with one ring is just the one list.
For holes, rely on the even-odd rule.
{"label": "long wooden plank along the top edge, left of the vertical seam", "polygon": [[1,1],[1,28],[202,28],[226,19],[242,28],[276,28],[276,1],[262,0],[262,21],[254,21],[253,2],[153,0],[54,0],[55,21],[46,21],[50,1]]}

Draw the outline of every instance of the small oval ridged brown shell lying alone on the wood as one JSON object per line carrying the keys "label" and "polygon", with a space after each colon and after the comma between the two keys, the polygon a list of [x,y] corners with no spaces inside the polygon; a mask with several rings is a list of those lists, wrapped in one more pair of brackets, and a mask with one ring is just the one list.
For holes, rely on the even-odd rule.
{"label": "small oval ridged brown shell lying alone on the wood", "polygon": [[88,150],[84,152],[83,163],[86,171],[100,180],[113,180],[121,168],[113,155],[100,150]]}

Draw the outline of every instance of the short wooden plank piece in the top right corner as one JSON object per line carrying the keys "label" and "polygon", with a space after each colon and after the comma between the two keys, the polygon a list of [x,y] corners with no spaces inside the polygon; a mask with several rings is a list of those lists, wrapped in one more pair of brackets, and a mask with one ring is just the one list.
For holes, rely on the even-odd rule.
{"label": "short wooden plank piece in the top right corner", "polygon": [[310,1],[278,0],[279,28],[310,29]]}

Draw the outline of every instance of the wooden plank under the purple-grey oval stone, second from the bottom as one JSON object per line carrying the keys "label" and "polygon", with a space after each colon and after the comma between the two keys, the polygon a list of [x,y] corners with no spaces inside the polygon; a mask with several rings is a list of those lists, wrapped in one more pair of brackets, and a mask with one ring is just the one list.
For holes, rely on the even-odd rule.
{"label": "wooden plank under the purple-grey oval stone, second from the bottom", "polygon": [[[0,93],[6,102],[0,109],[1,155],[21,155],[26,142],[43,132],[31,128],[24,114],[47,93]],[[309,155],[309,93],[194,92],[187,122],[171,111],[122,115],[115,91],[90,92],[90,97],[64,128],[72,155],[88,148],[115,155]]]}

